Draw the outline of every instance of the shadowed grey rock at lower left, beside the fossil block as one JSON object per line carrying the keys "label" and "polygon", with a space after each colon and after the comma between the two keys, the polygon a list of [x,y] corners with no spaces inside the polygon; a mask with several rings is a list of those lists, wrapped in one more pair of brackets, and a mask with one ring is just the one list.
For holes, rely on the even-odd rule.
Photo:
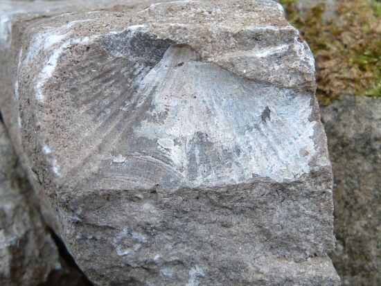
{"label": "shadowed grey rock at lower left, beside the fossil block", "polygon": [[60,257],[0,122],[0,285],[87,285]]}

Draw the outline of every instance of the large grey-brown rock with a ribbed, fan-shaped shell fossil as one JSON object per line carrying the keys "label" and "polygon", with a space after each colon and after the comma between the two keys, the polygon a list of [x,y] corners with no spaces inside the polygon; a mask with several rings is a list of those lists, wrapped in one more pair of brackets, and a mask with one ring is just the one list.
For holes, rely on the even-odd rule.
{"label": "large grey-brown rock with a ribbed, fan-shaped shell fossil", "polygon": [[4,120],[96,284],[339,284],[314,60],[281,6],[7,19]]}

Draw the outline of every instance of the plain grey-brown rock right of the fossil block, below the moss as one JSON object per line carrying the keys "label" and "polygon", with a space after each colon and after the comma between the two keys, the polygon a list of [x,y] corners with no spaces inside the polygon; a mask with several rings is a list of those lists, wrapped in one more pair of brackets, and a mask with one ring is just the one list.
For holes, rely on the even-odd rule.
{"label": "plain grey-brown rock right of the fossil block, below the moss", "polygon": [[381,285],[381,100],[342,96],[321,117],[335,175],[331,258],[343,285]]}

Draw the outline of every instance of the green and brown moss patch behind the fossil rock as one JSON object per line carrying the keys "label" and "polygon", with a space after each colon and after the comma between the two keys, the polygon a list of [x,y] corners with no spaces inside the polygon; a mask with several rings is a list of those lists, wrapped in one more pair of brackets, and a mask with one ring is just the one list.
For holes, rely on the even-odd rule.
{"label": "green and brown moss patch behind the fossil rock", "polygon": [[344,0],[337,19],[324,20],[324,3],[301,15],[296,0],[281,0],[290,24],[301,30],[317,66],[317,97],[381,97],[381,2]]}

